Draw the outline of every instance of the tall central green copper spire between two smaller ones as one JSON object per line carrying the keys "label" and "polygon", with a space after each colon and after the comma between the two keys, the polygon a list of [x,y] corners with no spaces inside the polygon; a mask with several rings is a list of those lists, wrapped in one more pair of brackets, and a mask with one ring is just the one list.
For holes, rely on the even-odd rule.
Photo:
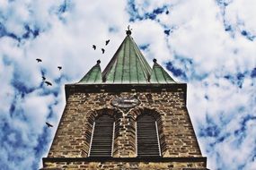
{"label": "tall central green copper spire between two smaller ones", "polygon": [[147,83],[149,81],[152,69],[130,34],[131,32],[127,32],[127,37],[102,72],[103,82]]}

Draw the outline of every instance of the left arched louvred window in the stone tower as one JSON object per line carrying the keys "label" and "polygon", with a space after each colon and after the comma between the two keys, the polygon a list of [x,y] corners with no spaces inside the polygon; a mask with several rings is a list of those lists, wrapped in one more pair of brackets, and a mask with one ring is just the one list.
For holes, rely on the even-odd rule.
{"label": "left arched louvred window in the stone tower", "polygon": [[111,157],[113,146],[114,118],[101,115],[93,123],[89,157]]}

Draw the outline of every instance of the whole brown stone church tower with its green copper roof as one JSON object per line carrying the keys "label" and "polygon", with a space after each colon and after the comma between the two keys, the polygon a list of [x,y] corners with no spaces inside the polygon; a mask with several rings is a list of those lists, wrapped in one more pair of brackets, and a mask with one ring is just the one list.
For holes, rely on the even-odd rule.
{"label": "whole brown stone church tower with its green copper roof", "polygon": [[207,169],[186,107],[187,84],[146,62],[131,31],[102,72],[100,61],[66,84],[66,107],[44,170]]}

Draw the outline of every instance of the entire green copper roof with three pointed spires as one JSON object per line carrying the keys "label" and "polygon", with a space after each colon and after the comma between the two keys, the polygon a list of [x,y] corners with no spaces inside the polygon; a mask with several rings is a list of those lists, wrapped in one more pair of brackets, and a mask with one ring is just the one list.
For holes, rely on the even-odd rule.
{"label": "entire green copper roof with three pointed spires", "polygon": [[153,69],[150,67],[130,35],[131,31],[127,30],[127,37],[103,72],[101,61],[98,60],[78,84],[176,83],[163,67],[156,63],[156,59],[153,60]]}

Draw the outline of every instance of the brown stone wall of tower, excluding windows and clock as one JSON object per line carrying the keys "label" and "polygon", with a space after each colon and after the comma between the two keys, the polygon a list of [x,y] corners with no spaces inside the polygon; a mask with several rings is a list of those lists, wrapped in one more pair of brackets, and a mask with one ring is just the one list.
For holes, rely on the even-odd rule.
{"label": "brown stone wall of tower, excluding windows and clock", "polygon": [[[66,107],[48,157],[88,157],[93,131],[93,121],[98,115],[109,114],[115,118],[113,157],[137,157],[136,120],[143,113],[154,115],[159,132],[162,157],[202,157],[199,144],[190,122],[185,105],[184,89],[132,92],[74,92],[66,99]],[[119,108],[111,105],[118,97],[134,97],[140,104],[133,108]],[[76,163],[74,163],[76,164]],[[80,164],[80,163],[79,163]],[[115,166],[113,166],[113,164]],[[126,163],[83,163],[78,165],[87,169],[133,169]],[[181,163],[183,165],[185,163]],[[190,167],[190,163],[188,163]],[[194,167],[205,167],[192,164]],[[61,164],[60,164],[61,165]],[[102,167],[100,167],[102,165]],[[127,166],[126,166],[127,165]],[[179,169],[172,163],[134,163],[134,169]],[[180,164],[179,164],[180,165]],[[45,167],[52,166],[51,163]],[[72,164],[64,165],[73,168]],[[152,166],[152,167],[151,167]],[[62,167],[62,166],[61,166]]]}

